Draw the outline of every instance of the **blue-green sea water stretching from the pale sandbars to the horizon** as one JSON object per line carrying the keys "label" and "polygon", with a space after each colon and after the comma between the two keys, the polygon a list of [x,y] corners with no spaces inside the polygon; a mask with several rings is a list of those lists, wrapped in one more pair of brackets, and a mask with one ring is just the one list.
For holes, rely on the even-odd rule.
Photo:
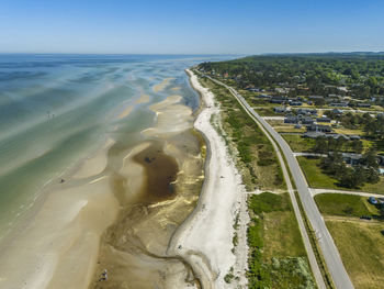
{"label": "blue-green sea water stretching from the pale sandbars to the horizon", "polygon": [[[185,68],[233,57],[0,54],[0,241],[106,137],[139,142],[151,103],[181,96],[195,110]],[[143,96],[149,101],[133,105]]]}

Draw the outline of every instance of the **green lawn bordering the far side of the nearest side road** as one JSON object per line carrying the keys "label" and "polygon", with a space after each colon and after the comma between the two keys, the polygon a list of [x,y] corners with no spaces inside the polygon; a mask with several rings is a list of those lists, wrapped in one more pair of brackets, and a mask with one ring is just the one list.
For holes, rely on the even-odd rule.
{"label": "green lawn bordering the far side of the nearest side road", "polygon": [[[298,156],[297,162],[310,188],[353,190],[338,186],[337,179],[324,174],[318,166],[320,164],[320,158]],[[384,177],[380,177],[377,184],[365,184],[362,188],[354,190],[384,194]]]}

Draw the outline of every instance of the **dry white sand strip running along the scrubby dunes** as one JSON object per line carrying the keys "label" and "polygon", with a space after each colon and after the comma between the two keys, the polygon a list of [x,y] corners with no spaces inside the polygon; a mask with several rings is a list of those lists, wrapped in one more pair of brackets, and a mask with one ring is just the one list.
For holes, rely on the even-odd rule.
{"label": "dry white sand strip running along the scrubby dunes", "polygon": [[[240,175],[227,155],[224,141],[210,123],[211,115],[219,112],[215,107],[214,96],[199,84],[190,70],[188,73],[193,88],[201,92],[206,104],[194,126],[206,136],[211,159],[206,167],[199,205],[176,233],[169,252],[176,252],[192,265],[204,288],[237,288],[238,285],[244,287],[248,255],[245,236],[248,220],[245,188]],[[239,211],[239,245],[234,255],[233,225]],[[239,284],[235,280],[229,285],[224,281],[224,276],[230,267],[234,267],[235,276],[240,277]]]}

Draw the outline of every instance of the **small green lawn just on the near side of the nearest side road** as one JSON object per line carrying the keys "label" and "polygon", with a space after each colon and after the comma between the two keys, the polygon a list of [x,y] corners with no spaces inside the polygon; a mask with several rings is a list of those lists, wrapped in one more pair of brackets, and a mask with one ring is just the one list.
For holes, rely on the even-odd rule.
{"label": "small green lawn just on the near side of the nearest side road", "polygon": [[323,214],[357,218],[379,215],[379,210],[361,196],[321,193],[315,196],[315,201]]}

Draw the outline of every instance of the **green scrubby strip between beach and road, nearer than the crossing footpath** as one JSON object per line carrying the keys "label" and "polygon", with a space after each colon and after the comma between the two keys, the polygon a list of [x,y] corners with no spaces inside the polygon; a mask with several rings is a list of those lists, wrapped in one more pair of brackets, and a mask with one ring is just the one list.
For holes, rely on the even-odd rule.
{"label": "green scrubby strip between beach and road, nearer than the crossing footpath", "polygon": [[249,288],[316,288],[289,196],[251,196],[249,209]]}

